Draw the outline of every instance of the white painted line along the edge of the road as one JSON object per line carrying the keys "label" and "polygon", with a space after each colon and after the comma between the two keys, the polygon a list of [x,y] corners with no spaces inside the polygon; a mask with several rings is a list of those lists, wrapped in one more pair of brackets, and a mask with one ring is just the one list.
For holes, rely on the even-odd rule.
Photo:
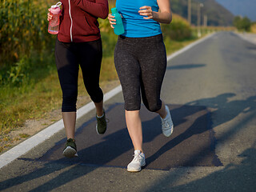
{"label": "white painted line along the edge of the road", "polygon": [[[213,34],[210,34],[209,36],[206,36],[206,38],[210,38]],[[199,39],[196,42],[191,43],[189,46],[186,46],[182,48],[182,50],[178,50],[174,54],[171,54],[167,60],[176,57],[178,54],[182,54],[186,50],[189,50],[191,47],[197,45],[198,43],[206,40],[206,38]],[[109,100],[110,98],[113,98],[114,95],[120,93],[122,91],[121,86],[115,87],[113,90],[110,90],[108,93],[104,94],[104,102]],[[77,111],[77,118],[81,118],[83,115],[90,112],[90,110],[94,109],[94,103],[89,102],[85,106],[82,106]],[[58,133],[59,130],[64,129],[62,119],[58,122],[55,122],[53,125],[46,127],[46,129],[40,131],[38,134],[34,134],[31,138],[26,139],[24,142],[21,142],[17,146],[14,146],[10,150],[6,151],[4,154],[0,155],[0,169],[3,166],[6,166],[10,162],[14,161],[14,159],[22,156],[23,154],[26,154],[29,150],[34,148],[35,146],[38,146],[40,143],[46,141],[46,139],[50,138],[52,135]]]}

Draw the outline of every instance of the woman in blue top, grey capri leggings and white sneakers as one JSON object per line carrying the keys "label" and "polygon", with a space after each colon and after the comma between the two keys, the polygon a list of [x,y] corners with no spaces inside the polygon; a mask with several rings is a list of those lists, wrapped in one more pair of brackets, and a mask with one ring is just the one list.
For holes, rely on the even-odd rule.
{"label": "woman in blue top, grey capri leggings and white sneakers", "polygon": [[[160,22],[169,24],[172,14],[170,0],[117,0],[116,7],[122,15],[125,33],[118,37],[114,65],[122,85],[126,126],[134,145],[134,159],[127,170],[137,172],[146,165],[139,117],[141,98],[148,110],[160,115],[166,137],[174,129],[170,110],[160,99],[166,72],[166,48]],[[114,16],[109,14],[108,19],[114,28]]]}

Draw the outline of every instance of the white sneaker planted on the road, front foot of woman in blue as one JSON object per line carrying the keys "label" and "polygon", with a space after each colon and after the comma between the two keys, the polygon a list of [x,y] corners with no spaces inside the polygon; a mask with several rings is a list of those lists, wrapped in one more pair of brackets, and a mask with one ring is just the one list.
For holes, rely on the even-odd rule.
{"label": "white sneaker planted on the road, front foot of woman in blue", "polygon": [[140,150],[134,150],[134,159],[128,164],[127,170],[138,172],[142,170],[142,166],[146,166],[145,154],[142,154]]}

